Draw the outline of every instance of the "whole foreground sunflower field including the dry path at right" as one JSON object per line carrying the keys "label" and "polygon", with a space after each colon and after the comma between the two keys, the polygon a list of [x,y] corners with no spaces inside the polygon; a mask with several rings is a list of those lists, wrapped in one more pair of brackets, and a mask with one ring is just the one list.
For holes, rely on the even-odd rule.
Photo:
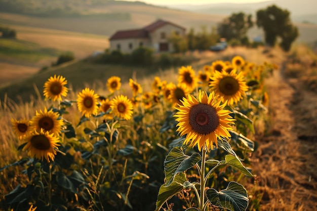
{"label": "whole foreground sunflower field including the dry path at right", "polygon": [[[46,87],[30,90],[38,98],[3,99],[2,209],[314,209],[317,56],[304,46],[195,54],[192,66],[151,73],[100,66],[90,74],[103,82],[76,88],[90,79],[65,65],[34,78]],[[235,98],[225,80],[230,93],[239,82]]]}

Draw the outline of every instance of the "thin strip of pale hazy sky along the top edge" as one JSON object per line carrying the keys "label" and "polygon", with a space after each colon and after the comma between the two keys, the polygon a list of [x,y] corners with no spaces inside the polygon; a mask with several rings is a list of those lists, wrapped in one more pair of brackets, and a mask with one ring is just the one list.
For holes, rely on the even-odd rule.
{"label": "thin strip of pale hazy sky along the top edge", "polygon": [[[129,2],[135,2],[136,0],[125,0]],[[152,5],[204,5],[213,3],[257,3],[265,2],[267,0],[138,0]]]}

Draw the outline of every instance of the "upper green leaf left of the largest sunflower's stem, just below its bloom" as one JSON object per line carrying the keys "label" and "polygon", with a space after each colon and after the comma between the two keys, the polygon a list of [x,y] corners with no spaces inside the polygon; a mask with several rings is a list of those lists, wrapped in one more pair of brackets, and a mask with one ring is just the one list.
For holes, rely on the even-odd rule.
{"label": "upper green leaf left of the largest sunflower's stem, just below its bloom", "polygon": [[193,153],[185,155],[181,147],[174,147],[164,161],[166,185],[169,186],[177,173],[184,172],[201,160],[201,155]]}

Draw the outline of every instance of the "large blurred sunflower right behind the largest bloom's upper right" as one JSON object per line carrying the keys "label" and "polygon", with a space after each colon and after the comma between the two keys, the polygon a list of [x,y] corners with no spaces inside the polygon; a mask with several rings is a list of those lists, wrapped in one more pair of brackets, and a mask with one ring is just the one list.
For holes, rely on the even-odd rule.
{"label": "large blurred sunflower right behind the largest bloom's upper right", "polygon": [[242,72],[236,74],[235,69],[230,73],[225,71],[215,72],[211,79],[209,85],[211,90],[223,97],[222,102],[228,100],[229,106],[240,101],[248,90]]}

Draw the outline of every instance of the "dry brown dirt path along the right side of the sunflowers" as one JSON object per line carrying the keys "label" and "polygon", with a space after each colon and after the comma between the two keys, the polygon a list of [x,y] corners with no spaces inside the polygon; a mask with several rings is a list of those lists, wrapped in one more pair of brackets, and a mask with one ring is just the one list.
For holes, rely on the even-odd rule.
{"label": "dry brown dirt path along the right side of the sunflowers", "polygon": [[317,94],[283,71],[266,87],[271,126],[253,155],[260,210],[317,210]]}

